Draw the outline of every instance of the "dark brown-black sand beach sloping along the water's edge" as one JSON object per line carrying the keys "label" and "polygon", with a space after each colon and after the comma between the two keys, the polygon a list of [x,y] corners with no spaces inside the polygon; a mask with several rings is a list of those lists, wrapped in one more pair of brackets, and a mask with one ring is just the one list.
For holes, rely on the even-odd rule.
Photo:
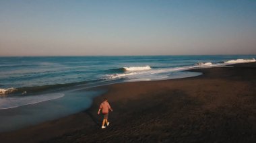
{"label": "dark brown-black sand beach sloping along the water's edge", "polygon": [[[256,62],[203,75],[119,83],[81,113],[0,134],[1,142],[256,142]],[[104,97],[113,112],[101,129]]]}

